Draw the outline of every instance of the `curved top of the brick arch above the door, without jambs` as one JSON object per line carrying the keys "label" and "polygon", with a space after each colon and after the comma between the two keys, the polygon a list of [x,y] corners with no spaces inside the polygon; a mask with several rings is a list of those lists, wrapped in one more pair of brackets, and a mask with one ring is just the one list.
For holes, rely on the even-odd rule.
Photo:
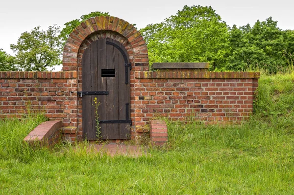
{"label": "curved top of the brick arch above the door, without jambs", "polygon": [[[63,51],[63,71],[78,70],[78,63],[80,63],[78,59],[82,57],[84,49],[82,45],[89,45],[95,41],[93,35],[96,34],[102,34],[101,36],[106,38],[108,38],[107,35],[114,38],[117,35],[123,37],[125,39],[123,45],[129,55],[133,56],[131,63],[134,70],[148,70],[147,45],[141,33],[132,24],[122,19],[100,16],[82,22],[70,34]],[[119,40],[121,41],[122,39]]]}

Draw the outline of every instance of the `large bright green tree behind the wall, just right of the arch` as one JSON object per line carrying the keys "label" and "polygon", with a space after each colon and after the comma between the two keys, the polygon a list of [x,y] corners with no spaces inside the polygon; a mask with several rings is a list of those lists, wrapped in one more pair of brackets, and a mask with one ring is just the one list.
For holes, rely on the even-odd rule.
{"label": "large bright green tree behind the wall, just right of the arch", "polygon": [[185,5],[175,16],[140,31],[147,42],[150,64],[210,62],[213,69],[226,64],[228,27],[211,7]]}

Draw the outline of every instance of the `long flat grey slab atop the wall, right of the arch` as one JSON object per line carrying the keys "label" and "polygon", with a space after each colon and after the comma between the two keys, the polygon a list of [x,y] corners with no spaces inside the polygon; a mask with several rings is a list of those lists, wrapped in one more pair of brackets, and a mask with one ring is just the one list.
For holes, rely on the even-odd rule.
{"label": "long flat grey slab atop the wall, right of the arch", "polygon": [[178,69],[178,68],[191,68],[191,69],[200,69],[200,68],[209,68],[209,63],[186,63],[186,62],[176,62],[176,63],[153,63],[153,69]]}

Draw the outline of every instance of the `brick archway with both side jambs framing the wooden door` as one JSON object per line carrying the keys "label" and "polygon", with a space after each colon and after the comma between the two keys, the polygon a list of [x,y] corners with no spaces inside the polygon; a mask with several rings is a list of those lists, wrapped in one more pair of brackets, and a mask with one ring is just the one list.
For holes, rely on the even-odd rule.
{"label": "brick archway with both side jambs framing the wooden door", "polygon": [[[63,71],[77,71],[77,91],[82,91],[82,57],[85,49],[94,41],[110,38],[121,43],[130,58],[131,120],[135,124],[134,71],[147,71],[148,51],[141,33],[130,23],[116,17],[95,17],[77,26],[70,34],[63,51]],[[82,138],[82,98],[77,98],[77,139]],[[133,132],[132,131],[132,138]]]}

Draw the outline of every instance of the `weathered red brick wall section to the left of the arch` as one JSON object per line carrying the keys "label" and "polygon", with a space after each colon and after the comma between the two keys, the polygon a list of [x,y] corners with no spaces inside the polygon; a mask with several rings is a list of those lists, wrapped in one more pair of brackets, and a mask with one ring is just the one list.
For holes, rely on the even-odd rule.
{"label": "weathered red brick wall section to the left of the arch", "polygon": [[26,105],[63,126],[77,125],[77,72],[0,72],[0,114],[18,116]]}

